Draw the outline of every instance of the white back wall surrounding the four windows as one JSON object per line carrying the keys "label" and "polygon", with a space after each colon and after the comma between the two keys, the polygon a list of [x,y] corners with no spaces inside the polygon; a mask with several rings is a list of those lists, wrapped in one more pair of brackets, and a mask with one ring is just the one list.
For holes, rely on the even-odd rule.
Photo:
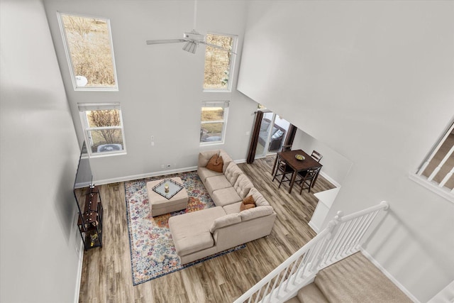
{"label": "white back wall surrounding the four windows", "polygon": [[[201,149],[223,148],[235,160],[246,158],[257,104],[233,89],[204,93],[204,46],[196,54],[182,43],[146,45],[145,40],[180,38],[193,27],[193,1],[45,1],[62,77],[79,142],[83,135],[77,102],[120,101],[127,155],[92,158],[96,183],[124,180],[171,169],[194,167]],[[101,16],[111,21],[118,92],[74,92],[56,11]],[[238,35],[243,42],[244,1],[198,1],[196,30]],[[236,60],[233,87],[240,57]],[[199,146],[202,100],[230,100],[226,143]],[[150,136],[155,136],[155,146]],[[176,164],[176,167],[174,165]]]}

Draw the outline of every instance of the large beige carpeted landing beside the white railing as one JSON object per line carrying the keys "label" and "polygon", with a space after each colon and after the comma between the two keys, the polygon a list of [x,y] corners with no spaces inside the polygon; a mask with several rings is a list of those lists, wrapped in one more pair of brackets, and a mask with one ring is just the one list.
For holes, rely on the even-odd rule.
{"label": "large beige carpeted landing beside the white railing", "polygon": [[360,252],[321,270],[314,284],[328,302],[411,302]]}

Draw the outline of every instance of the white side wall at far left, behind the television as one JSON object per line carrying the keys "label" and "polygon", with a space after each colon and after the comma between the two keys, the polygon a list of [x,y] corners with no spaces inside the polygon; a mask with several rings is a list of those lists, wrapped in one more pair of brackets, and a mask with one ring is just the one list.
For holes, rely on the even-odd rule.
{"label": "white side wall at far left, behind the television", "polygon": [[79,145],[43,4],[0,5],[0,302],[74,302]]}

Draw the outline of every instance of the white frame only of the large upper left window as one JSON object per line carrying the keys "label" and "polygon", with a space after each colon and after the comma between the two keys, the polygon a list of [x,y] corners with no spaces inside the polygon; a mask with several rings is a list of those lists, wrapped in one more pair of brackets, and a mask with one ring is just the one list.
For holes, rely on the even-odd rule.
{"label": "white frame only of the large upper left window", "polygon": [[[65,25],[63,23],[62,15],[77,16],[77,17],[81,17],[81,18],[94,18],[94,19],[106,21],[107,29],[109,32],[109,45],[110,45],[111,57],[112,57],[112,68],[114,70],[113,72],[114,72],[114,79],[115,79],[115,87],[79,87],[79,86],[77,86],[76,75],[74,75],[74,64],[72,62],[70,45],[68,45],[67,33],[65,30]],[[112,39],[112,29],[111,29],[110,19],[104,18],[104,17],[99,17],[99,16],[83,15],[80,13],[65,13],[65,12],[61,12],[61,11],[57,11],[57,19],[58,19],[58,26],[60,27],[60,33],[62,34],[63,47],[65,48],[65,55],[66,55],[66,59],[68,62],[68,67],[70,68],[70,77],[71,77],[72,87],[73,87],[74,91],[118,92],[118,78],[116,75],[114,41]]]}

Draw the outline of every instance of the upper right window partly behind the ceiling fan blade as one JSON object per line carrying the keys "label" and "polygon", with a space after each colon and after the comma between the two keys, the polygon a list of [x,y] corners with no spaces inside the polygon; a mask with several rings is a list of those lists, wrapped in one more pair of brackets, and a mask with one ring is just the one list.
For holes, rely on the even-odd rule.
{"label": "upper right window partly behind the ceiling fan blade", "polygon": [[204,89],[208,91],[230,91],[235,55],[225,50],[235,52],[236,36],[209,33],[206,35],[206,42],[218,45],[224,50],[206,46]]}

